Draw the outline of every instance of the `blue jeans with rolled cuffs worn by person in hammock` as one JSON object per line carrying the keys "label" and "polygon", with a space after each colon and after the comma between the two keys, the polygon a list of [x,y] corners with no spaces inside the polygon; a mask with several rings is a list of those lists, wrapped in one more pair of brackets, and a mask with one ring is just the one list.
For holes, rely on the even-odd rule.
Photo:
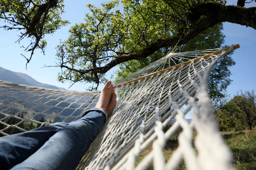
{"label": "blue jeans with rolled cuffs worn by person in hammock", "polygon": [[0,170],[73,170],[99,134],[107,112],[0,138]]}

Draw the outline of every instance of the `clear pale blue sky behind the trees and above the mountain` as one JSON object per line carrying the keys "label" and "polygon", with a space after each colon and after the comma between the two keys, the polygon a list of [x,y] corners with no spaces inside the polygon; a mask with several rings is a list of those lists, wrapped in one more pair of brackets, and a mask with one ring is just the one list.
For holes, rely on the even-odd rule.
{"label": "clear pale blue sky behind the trees and above the mountain", "polygon": [[[107,2],[108,0],[95,0],[92,2],[84,0],[69,1],[65,0],[65,11],[63,19],[70,20],[68,26],[62,27],[60,30],[56,31],[55,34],[46,36],[47,48],[45,50],[45,55],[41,51],[35,51],[35,54],[28,65],[26,70],[26,59],[20,54],[29,56],[29,53],[25,53],[21,45],[28,42],[28,40],[21,42],[22,44],[15,43],[18,39],[16,31],[5,31],[0,29],[0,51],[1,51],[1,62],[0,67],[6,68],[11,71],[26,73],[32,78],[39,82],[47,83],[51,85],[56,85],[58,87],[68,88],[70,84],[68,82],[61,83],[57,81],[57,74],[60,68],[42,68],[44,65],[55,65],[57,61],[55,58],[56,49],[55,47],[59,44],[60,39],[66,40],[69,36],[68,30],[75,23],[83,22],[84,13],[89,12],[85,5],[87,3],[92,3],[95,6],[100,6],[100,3]],[[236,0],[230,0],[227,2],[228,5],[236,3]],[[255,2],[246,4],[246,7],[256,6]],[[2,25],[3,22],[0,22]],[[233,23],[224,23],[225,34],[225,45],[240,44],[240,48],[233,54],[233,59],[236,65],[231,67],[231,79],[233,79],[232,84],[227,88],[228,94],[230,96],[236,95],[236,92],[241,90],[256,90],[255,84],[255,57],[256,57],[256,30],[253,28],[246,28],[246,26],[240,26]],[[107,77],[113,74],[116,68],[111,69],[107,73]],[[84,85],[77,83],[73,85],[70,90],[83,91],[85,88],[90,86],[90,84]]]}

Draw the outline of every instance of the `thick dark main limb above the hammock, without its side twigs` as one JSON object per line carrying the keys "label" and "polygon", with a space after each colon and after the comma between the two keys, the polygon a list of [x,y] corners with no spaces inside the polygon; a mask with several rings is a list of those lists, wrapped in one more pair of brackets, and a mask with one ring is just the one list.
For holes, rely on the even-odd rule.
{"label": "thick dark main limb above the hammock, without its side twigs", "polygon": [[186,42],[192,40],[202,31],[222,22],[237,23],[256,29],[256,7],[241,8],[236,6],[223,6],[215,3],[206,3],[195,6],[192,11],[193,13],[190,14],[190,20],[195,18],[195,15],[197,18],[198,15],[200,17],[207,16],[207,18],[201,20],[199,23],[196,23],[196,25],[189,30],[186,36],[182,37],[177,35],[167,38],[160,38],[155,42],[151,43],[150,45],[147,45],[140,52],[118,57],[106,64],[104,67],[91,68],[82,72],[88,73],[90,71],[97,71],[98,73],[106,73],[108,70],[122,62],[127,62],[132,59],[145,59],[160,48],[174,46],[176,45],[180,37],[180,42],[177,45],[186,44]]}

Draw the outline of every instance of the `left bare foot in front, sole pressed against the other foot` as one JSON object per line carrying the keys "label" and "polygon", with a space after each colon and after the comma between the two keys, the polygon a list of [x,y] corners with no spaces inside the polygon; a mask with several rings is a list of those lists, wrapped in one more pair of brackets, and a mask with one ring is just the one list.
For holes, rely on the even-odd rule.
{"label": "left bare foot in front, sole pressed against the other foot", "polygon": [[105,86],[102,88],[99,101],[97,102],[95,108],[107,109],[113,91],[114,88],[113,85],[111,85],[111,81],[106,82]]}

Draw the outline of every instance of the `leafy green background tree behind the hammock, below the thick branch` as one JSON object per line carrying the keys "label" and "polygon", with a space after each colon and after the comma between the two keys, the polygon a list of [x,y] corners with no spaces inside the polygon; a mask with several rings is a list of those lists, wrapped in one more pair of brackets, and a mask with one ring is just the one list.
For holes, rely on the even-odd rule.
{"label": "leafy green background tree behind the hammock, below the thick branch", "polygon": [[[222,24],[216,25],[208,30],[204,31],[202,34],[198,35],[193,40],[189,41],[186,45],[181,46],[178,52],[182,51],[195,51],[195,50],[204,50],[210,48],[220,48],[221,44],[224,43],[224,34],[222,34],[223,26]],[[226,47],[226,46],[224,46]],[[119,70],[116,71],[115,82],[127,77],[128,75],[134,73],[135,71],[140,70],[146,65],[151,64],[152,62],[164,57],[169,51],[172,51],[170,48],[163,48],[154,55],[147,57],[142,60],[131,60],[128,62],[123,62],[119,65]],[[227,86],[231,84],[232,80],[230,79],[231,72],[229,68],[232,65],[235,65],[235,62],[231,58],[233,52],[228,54],[225,57],[222,57],[218,63],[212,68],[212,71],[209,76],[209,94],[212,98],[212,102],[215,110],[221,107],[221,100],[225,97],[225,92]],[[174,63],[173,63],[174,65]],[[226,104],[226,102],[225,102]]]}

